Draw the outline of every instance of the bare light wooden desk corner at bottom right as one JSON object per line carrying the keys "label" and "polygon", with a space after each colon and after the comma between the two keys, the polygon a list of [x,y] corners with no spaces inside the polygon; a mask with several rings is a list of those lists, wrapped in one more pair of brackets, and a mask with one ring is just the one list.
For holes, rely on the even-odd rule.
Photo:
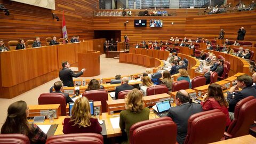
{"label": "bare light wooden desk corner at bottom right", "polygon": [[237,137],[233,139],[228,139],[228,140],[222,140],[218,142],[213,142],[211,144],[255,144],[256,143],[256,138],[254,138],[252,135],[244,135],[242,137]]}

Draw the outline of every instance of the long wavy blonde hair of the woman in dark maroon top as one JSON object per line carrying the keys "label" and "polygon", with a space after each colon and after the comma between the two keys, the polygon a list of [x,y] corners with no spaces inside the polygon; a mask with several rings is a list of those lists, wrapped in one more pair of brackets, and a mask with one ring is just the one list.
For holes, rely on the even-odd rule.
{"label": "long wavy blonde hair of the woman in dark maroon top", "polygon": [[78,98],[74,106],[72,107],[71,114],[69,122],[74,122],[74,125],[78,125],[79,127],[87,127],[91,125],[90,118],[91,116],[91,108],[89,104],[89,100],[86,97]]}

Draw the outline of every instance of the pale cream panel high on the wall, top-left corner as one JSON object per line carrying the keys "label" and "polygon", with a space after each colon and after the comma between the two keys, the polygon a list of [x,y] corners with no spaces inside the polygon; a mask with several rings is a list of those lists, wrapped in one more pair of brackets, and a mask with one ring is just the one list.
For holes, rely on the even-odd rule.
{"label": "pale cream panel high on the wall, top-left corner", "polygon": [[46,0],[11,0],[11,1],[55,10],[55,0],[47,0],[47,1]]}

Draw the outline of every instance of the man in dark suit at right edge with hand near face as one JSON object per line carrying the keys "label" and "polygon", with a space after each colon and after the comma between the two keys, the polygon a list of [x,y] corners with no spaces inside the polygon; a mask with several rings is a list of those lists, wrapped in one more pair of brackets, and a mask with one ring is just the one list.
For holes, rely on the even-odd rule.
{"label": "man in dark suit at right edge with hand near face", "polygon": [[[253,95],[256,98],[256,89],[252,87],[253,80],[249,75],[241,75],[237,77],[237,84],[235,86],[230,87],[227,101],[229,103],[228,111],[229,117],[231,121],[234,119],[234,110],[236,107],[236,103],[246,97]],[[238,91],[238,87],[242,89],[242,91]],[[233,97],[234,95],[234,97]]]}

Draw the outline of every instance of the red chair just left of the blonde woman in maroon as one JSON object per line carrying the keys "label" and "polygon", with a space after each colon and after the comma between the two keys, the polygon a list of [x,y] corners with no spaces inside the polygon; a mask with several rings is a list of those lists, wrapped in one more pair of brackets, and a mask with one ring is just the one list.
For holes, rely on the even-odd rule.
{"label": "red chair just left of the blonde woman in maroon", "polygon": [[60,104],[61,115],[66,116],[66,98],[63,93],[42,93],[38,98],[38,105]]}

